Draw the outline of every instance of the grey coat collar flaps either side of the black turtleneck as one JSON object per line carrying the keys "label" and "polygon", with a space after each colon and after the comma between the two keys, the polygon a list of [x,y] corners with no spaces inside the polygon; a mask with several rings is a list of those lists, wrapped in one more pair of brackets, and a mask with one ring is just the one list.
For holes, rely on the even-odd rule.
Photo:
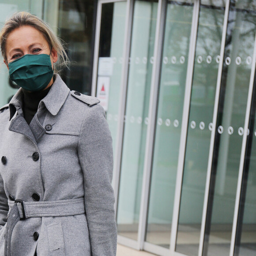
{"label": "grey coat collar flaps either side of the black turtleneck", "polygon": [[[49,93],[45,96],[45,98],[43,98],[39,103],[39,108],[41,107],[42,104],[44,104],[46,109],[48,109],[48,111],[53,116],[56,116],[56,114],[60,111],[60,108],[66,101],[70,90],[66,86],[66,84],[62,81],[62,79],[60,78],[60,75],[54,74],[54,76],[55,76],[55,81],[52,85],[52,88],[51,90],[49,90]],[[11,99],[11,102],[9,103],[10,120],[14,117],[16,111],[22,108],[22,98],[23,98],[23,92],[20,88]]]}

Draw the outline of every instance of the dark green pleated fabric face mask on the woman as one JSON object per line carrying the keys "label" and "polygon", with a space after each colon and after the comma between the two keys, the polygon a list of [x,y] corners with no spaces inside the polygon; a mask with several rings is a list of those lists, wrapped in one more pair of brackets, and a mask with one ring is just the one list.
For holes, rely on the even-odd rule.
{"label": "dark green pleated fabric face mask on the woman", "polygon": [[53,68],[47,54],[26,54],[9,63],[11,81],[28,91],[40,91],[50,83]]}

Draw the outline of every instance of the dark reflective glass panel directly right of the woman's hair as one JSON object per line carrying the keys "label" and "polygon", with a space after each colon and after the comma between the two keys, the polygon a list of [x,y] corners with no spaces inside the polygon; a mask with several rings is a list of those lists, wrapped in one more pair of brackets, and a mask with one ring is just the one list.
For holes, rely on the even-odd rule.
{"label": "dark reflective glass panel directly right of the woman's hair", "polygon": [[[70,67],[62,79],[71,90],[91,93],[96,1],[60,0],[59,35],[67,43]],[[51,5],[49,5],[50,7]],[[47,15],[49,19],[49,15]]]}

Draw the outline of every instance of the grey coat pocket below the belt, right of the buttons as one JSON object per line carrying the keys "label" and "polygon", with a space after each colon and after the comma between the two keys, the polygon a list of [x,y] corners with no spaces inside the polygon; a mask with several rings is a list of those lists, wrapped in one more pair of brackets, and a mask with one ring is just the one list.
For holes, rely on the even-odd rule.
{"label": "grey coat pocket below the belt, right of the buttons", "polygon": [[65,255],[64,238],[61,222],[53,222],[47,226],[49,255]]}

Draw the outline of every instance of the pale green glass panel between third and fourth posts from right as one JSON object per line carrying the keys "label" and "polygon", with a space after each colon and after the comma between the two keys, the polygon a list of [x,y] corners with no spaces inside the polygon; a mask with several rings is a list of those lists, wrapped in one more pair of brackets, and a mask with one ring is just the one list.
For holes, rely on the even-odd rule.
{"label": "pale green glass panel between third and fourth posts from right", "polygon": [[169,248],[193,5],[169,1],[146,241]]}

